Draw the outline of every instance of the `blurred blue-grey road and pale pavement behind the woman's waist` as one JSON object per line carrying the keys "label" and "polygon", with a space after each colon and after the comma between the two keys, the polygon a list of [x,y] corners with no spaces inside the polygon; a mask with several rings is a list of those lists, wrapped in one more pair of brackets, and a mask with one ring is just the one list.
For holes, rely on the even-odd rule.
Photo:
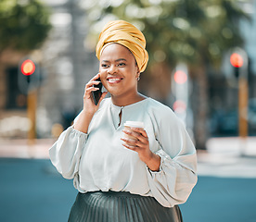
{"label": "blurred blue-grey road and pale pavement behind the woman's waist", "polygon": [[[48,159],[53,140],[3,141],[0,146],[0,221],[67,221],[77,191]],[[198,151],[198,184],[181,205],[187,222],[253,222],[256,138],[211,138]]]}

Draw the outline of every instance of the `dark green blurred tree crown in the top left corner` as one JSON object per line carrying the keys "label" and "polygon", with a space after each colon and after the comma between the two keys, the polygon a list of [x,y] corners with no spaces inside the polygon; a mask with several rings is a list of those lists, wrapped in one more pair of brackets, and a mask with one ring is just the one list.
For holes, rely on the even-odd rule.
{"label": "dark green blurred tree crown in the top left corner", "polygon": [[45,40],[49,11],[37,0],[0,1],[0,54],[5,49],[30,51]]}

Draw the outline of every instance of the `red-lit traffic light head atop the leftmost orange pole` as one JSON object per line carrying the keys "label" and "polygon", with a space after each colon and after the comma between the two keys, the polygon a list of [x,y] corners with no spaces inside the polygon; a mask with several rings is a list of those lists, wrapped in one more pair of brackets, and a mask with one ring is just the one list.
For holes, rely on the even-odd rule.
{"label": "red-lit traffic light head atop the leftmost orange pole", "polygon": [[21,93],[28,94],[40,83],[39,66],[30,58],[19,61],[18,85]]}

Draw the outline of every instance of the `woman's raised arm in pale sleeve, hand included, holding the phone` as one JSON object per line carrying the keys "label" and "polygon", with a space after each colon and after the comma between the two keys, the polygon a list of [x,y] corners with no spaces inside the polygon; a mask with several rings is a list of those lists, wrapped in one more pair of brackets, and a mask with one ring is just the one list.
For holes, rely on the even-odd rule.
{"label": "woman's raised arm in pale sleeve, hand included, holding the phone", "polygon": [[92,118],[94,117],[100,102],[107,93],[102,93],[98,105],[95,105],[91,93],[96,91],[95,84],[99,82],[97,74],[90,80],[84,90],[83,94],[83,110],[74,120],[74,125],[64,132],[58,138],[58,141],[49,150],[50,159],[58,172],[66,179],[73,179],[78,172],[78,166],[83,148],[87,140],[88,127]]}

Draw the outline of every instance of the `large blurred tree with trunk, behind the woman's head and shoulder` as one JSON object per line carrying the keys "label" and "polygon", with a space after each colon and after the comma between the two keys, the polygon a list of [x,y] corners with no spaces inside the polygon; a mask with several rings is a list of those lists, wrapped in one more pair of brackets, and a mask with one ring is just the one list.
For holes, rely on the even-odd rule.
{"label": "large blurred tree with trunk, behind the woman's head and shoulder", "polygon": [[170,93],[174,66],[179,62],[188,65],[196,86],[193,109],[198,149],[205,149],[208,137],[208,70],[217,73],[224,52],[243,44],[238,22],[248,16],[237,4],[236,0],[84,2],[93,31],[99,31],[106,20],[125,19],[145,33],[150,62],[141,87],[163,102]]}

